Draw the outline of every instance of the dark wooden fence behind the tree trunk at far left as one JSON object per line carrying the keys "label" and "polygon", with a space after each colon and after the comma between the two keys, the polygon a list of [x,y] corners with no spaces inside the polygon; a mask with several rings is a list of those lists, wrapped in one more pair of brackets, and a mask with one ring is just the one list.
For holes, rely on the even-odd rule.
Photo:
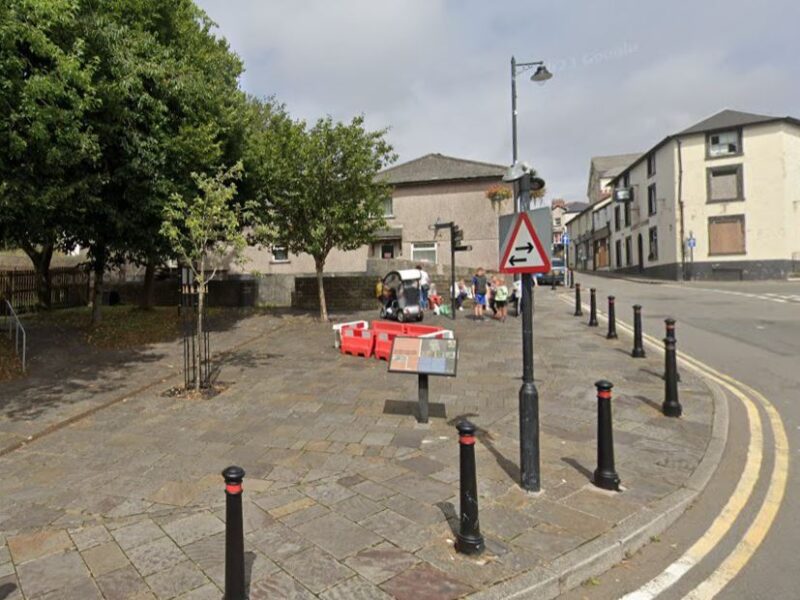
{"label": "dark wooden fence behind the tree trunk at far left", "polygon": [[[7,299],[18,312],[39,304],[36,272],[0,271],[0,298]],[[89,276],[80,268],[50,269],[50,303],[53,308],[85,306],[89,301]]]}

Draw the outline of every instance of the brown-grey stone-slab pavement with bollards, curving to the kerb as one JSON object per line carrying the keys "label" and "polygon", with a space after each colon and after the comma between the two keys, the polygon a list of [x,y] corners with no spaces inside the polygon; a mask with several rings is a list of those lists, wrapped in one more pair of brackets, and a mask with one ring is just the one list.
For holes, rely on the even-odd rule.
{"label": "brown-grey stone-slab pavement with bollards, curving to the kerb", "polygon": [[[52,391],[37,406],[46,375],[27,394],[4,386],[0,404],[15,411],[3,431],[21,427],[25,440],[0,451],[0,598],[220,598],[220,472],[231,464],[247,471],[252,600],[552,598],[585,582],[678,518],[727,428],[715,390],[688,371],[684,416],[663,417],[663,358],[632,359],[629,338],[606,340],[571,315],[558,299],[568,293],[536,291],[537,495],[517,485],[514,318],[431,319],[455,329],[460,361],[458,377],[432,378],[429,424],[413,416],[415,377],[339,354],[330,325],[302,316],[220,333],[224,391],[205,400],[164,394],[179,381],[175,345],[153,350],[147,368],[97,369],[93,386],[65,374],[69,402]],[[342,320],[357,317],[373,315]],[[621,493],[590,481],[601,378],[615,385]],[[453,550],[464,417],[479,427],[478,558]]]}

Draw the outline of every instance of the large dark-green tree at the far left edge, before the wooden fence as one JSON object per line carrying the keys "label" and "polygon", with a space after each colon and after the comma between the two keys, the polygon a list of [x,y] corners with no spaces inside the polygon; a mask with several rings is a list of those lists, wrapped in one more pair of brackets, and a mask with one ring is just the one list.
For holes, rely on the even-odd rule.
{"label": "large dark-green tree at the far left edge, before the wooden fence", "polygon": [[0,239],[31,259],[45,307],[53,252],[68,245],[66,223],[99,184],[94,66],[76,27],[74,2],[0,4]]}

